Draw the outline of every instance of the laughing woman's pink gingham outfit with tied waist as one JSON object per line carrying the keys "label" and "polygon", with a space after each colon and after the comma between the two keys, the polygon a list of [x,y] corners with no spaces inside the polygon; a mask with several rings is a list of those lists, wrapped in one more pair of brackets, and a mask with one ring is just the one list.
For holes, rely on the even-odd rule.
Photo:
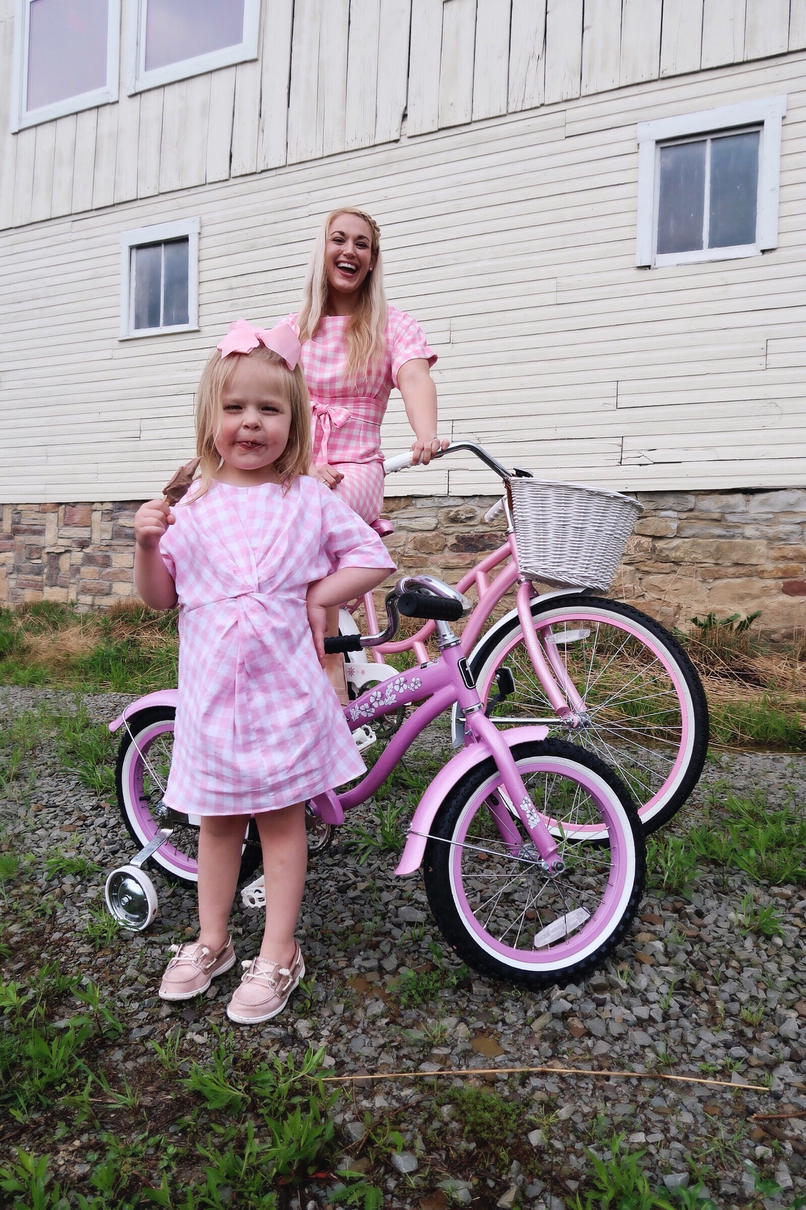
{"label": "laughing woman's pink gingham outfit with tied waist", "polygon": [[[296,325],[296,315],[289,322]],[[327,462],[344,476],[336,494],[365,522],[373,522],[383,507],[383,454],[381,421],[389,392],[398,386],[398,370],[416,357],[433,365],[436,353],[425,333],[410,315],[390,306],[387,311],[387,356],[377,370],[348,382],[348,316],[327,315],[317,335],[302,346],[302,369],[313,409],[313,460]]]}

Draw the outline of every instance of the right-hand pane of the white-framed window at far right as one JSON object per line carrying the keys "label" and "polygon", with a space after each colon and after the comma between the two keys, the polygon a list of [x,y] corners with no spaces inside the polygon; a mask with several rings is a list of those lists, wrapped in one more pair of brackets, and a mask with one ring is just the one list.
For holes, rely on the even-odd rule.
{"label": "right-hand pane of the white-framed window at far right", "polygon": [[759,131],[727,134],[711,144],[709,248],[755,243]]}

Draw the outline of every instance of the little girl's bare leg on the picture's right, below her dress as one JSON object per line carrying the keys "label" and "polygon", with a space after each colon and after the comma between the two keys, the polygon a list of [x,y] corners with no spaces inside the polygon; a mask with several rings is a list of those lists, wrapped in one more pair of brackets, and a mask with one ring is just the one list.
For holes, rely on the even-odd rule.
{"label": "little girl's bare leg on the picture's right, below her dress", "polygon": [[297,920],[308,868],[302,802],[255,817],[263,849],[266,928],[260,957],[283,967],[294,961]]}

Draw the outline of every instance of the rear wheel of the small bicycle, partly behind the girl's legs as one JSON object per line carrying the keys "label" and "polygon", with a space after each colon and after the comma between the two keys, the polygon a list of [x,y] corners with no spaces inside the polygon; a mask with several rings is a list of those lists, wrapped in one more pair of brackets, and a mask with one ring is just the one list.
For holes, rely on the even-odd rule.
{"label": "rear wheel of the small bicycle, partly behind the girl's legs", "polygon": [[[152,707],[132,715],[128,730],[123,727],[115,784],[123,823],[138,848],[147,845],[160,828],[153,812],[168,784],[175,713],[173,707]],[[198,825],[198,816],[181,817],[181,822],[174,824],[170,840],[150,858],[168,877],[180,882],[197,881]],[[248,836],[240,859],[240,878],[254,874],[261,860],[260,842]]]}

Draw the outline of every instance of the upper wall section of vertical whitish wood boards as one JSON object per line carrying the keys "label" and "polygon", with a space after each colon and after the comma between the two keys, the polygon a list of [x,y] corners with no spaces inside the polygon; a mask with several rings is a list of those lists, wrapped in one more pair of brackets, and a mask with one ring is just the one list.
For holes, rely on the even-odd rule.
{"label": "upper wall section of vertical whitish wood boards", "polygon": [[[0,230],[806,47],[806,0],[262,0],[259,59],[10,131]],[[404,115],[406,121],[404,126]]]}

